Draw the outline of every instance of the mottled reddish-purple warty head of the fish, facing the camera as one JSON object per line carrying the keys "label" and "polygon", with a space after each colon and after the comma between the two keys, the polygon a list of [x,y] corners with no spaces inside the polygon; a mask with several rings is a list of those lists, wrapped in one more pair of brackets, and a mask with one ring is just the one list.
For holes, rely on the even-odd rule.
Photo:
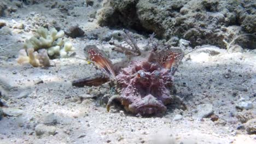
{"label": "mottled reddish-purple warty head of the fish, facing the camera", "polygon": [[170,69],[158,63],[138,62],[121,70],[117,75],[121,88],[121,103],[126,110],[141,115],[164,113],[171,103],[169,86],[173,76]]}

